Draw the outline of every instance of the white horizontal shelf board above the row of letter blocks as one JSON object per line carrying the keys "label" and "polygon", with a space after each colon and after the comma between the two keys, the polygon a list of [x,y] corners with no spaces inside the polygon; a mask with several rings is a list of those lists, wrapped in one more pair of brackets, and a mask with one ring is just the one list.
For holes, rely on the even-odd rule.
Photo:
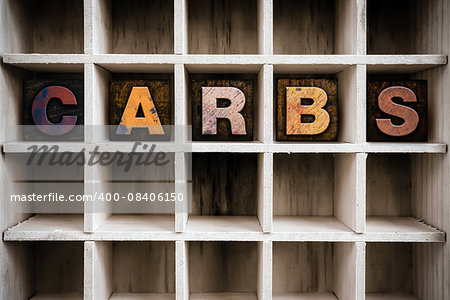
{"label": "white horizontal shelf board above the row of letter blocks", "polygon": [[175,64],[188,71],[256,73],[263,64],[281,73],[331,73],[351,65],[368,65],[369,72],[414,73],[445,65],[446,55],[160,55],[160,54],[5,54],[3,62],[30,71],[81,72],[98,64],[111,72],[173,72]]}

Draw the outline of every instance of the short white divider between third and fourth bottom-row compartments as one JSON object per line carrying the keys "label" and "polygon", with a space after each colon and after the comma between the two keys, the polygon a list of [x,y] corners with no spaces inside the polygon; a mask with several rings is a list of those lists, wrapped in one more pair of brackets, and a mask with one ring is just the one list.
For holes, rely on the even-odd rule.
{"label": "short white divider between third and fourth bottom-row compartments", "polygon": [[258,300],[272,299],[272,242],[258,243]]}

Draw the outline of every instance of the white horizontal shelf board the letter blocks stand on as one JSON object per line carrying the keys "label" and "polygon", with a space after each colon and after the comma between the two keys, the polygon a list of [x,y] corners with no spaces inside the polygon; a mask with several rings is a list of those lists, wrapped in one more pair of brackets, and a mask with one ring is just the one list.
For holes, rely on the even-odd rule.
{"label": "white horizontal shelf board the letter blocks stand on", "polygon": [[[155,151],[164,152],[235,152],[235,153],[446,153],[447,145],[440,143],[279,143],[263,144],[260,142],[191,142],[186,144],[173,142],[146,142],[155,145]],[[142,144],[142,145],[143,145]],[[136,152],[148,152],[149,147],[139,146]],[[99,152],[131,152],[134,142],[9,142],[3,144],[5,153],[28,153],[31,146],[47,146],[49,150],[58,146],[59,151],[80,152],[85,149],[93,151],[98,146]]]}

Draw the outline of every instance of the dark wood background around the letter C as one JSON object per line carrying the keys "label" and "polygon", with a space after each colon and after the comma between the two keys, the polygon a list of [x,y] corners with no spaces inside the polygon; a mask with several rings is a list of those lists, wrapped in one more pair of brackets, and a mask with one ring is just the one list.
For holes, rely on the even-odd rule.
{"label": "dark wood background around the letter C", "polygon": [[[83,80],[48,80],[35,79],[24,81],[23,90],[23,125],[37,125],[33,121],[32,110],[35,97],[45,87],[60,86],[70,90],[77,101],[76,105],[64,105],[61,100],[50,99],[46,106],[47,118],[50,123],[59,123],[63,116],[76,116],[75,127],[62,135],[48,135],[34,126],[25,126],[23,128],[23,139],[27,141],[82,141],[84,138],[84,83]],[[42,108],[44,109],[44,108]],[[40,115],[42,115],[41,112]],[[50,126],[50,125],[49,125]]]}

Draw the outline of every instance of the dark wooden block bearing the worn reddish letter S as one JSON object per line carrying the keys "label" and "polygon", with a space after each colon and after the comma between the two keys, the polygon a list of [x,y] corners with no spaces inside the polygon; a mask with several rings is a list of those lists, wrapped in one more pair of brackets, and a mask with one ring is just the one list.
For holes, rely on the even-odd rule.
{"label": "dark wooden block bearing the worn reddish letter S", "polygon": [[[401,90],[397,89],[397,93],[401,95],[403,98],[395,96],[392,98],[392,95],[395,91],[389,92],[385,91],[390,87],[405,87],[410,89],[417,99],[417,102],[407,102],[411,95],[407,93],[399,93]],[[381,94],[385,91],[383,94]],[[402,106],[406,106],[410,109],[413,109],[419,117],[419,122],[414,131],[409,134],[401,135],[401,136],[393,136],[392,134],[404,134],[407,131],[407,124],[410,122],[414,122],[414,115],[410,112],[403,113],[403,117],[397,117],[391,115],[395,113],[396,115],[400,115],[405,108],[395,108],[393,107],[390,111],[390,114],[383,112],[380,108],[379,97],[380,94],[382,98],[391,98],[393,100],[389,100],[394,102],[395,104],[399,104]],[[367,140],[371,142],[393,142],[393,141],[427,141],[428,138],[428,99],[427,99],[427,81],[425,80],[369,80],[367,87]],[[386,110],[386,109],[385,109]],[[411,111],[411,110],[409,110]],[[399,128],[394,131],[384,131],[388,132],[384,133],[380,129],[380,121],[377,119],[390,119],[392,124],[395,126],[401,126],[404,123],[404,120],[408,120],[409,123],[405,124],[403,128]],[[411,127],[411,126],[409,126]],[[384,127],[386,128],[386,125]]]}

